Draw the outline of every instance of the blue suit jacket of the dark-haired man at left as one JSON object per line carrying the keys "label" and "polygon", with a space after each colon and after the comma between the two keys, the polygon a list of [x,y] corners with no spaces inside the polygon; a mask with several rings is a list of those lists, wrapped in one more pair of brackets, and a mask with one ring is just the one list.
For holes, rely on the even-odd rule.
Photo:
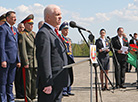
{"label": "blue suit jacket of the dark-haired man at left", "polygon": [[0,26],[0,61],[9,63],[20,62],[18,56],[18,34],[17,29],[13,26],[16,33],[14,36],[11,28],[7,23]]}

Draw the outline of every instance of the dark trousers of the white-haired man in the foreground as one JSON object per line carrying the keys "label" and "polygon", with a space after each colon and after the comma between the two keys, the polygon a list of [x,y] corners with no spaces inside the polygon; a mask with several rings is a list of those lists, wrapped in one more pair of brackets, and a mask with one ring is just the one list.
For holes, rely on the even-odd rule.
{"label": "dark trousers of the white-haired man in the foreground", "polygon": [[38,102],[61,102],[62,89],[52,89],[51,94],[45,94],[43,88],[38,88]]}

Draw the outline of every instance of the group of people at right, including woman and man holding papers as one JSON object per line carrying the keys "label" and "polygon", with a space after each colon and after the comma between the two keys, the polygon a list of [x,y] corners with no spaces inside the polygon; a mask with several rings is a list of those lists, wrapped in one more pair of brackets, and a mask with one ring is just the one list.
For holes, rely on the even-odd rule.
{"label": "group of people at right, including woman and man holding papers", "polygon": [[[137,33],[134,33],[134,37],[128,42],[128,39],[126,37],[126,34],[124,33],[124,28],[119,27],[117,29],[117,35],[111,39],[111,42],[109,43],[109,39],[105,37],[106,30],[101,29],[100,30],[100,38],[96,40],[96,47],[98,52],[98,59],[101,63],[100,66],[100,79],[101,79],[101,89],[103,91],[110,90],[108,87],[108,80],[107,77],[105,77],[105,85],[103,83],[103,69],[105,70],[105,73],[108,76],[109,71],[109,51],[114,50],[113,52],[113,63],[115,66],[115,80],[116,85],[115,88],[126,88],[125,84],[125,73],[130,72],[132,69],[132,65],[127,62],[128,60],[128,53],[131,50],[131,47],[129,44],[135,44],[138,45],[137,40]],[[122,48],[127,47],[127,50],[123,51]],[[130,67],[129,67],[130,66]],[[103,69],[101,68],[103,67]],[[135,68],[136,69],[136,68]]]}

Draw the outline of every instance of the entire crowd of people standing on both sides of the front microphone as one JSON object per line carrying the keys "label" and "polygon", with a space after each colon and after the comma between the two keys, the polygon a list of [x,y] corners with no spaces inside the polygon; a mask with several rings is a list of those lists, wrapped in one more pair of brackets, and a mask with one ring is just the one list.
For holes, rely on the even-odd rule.
{"label": "entire crowd of people standing on both sides of the front microphone", "polygon": [[[61,24],[60,7],[48,5],[44,9],[44,21],[38,23],[37,34],[33,31],[33,19],[33,14],[28,15],[16,29],[14,11],[0,16],[0,102],[14,102],[13,82],[16,98],[24,98],[25,102],[32,102],[37,95],[38,102],[61,102],[62,96],[74,95],[71,93],[73,69],[63,69],[63,66],[74,63],[74,57],[71,39],[67,36],[68,22]],[[111,44],[116,55],[113,56],[116,88],[126,88],[125,72],[130,50],[128,39],[122,27],[117,29],[117,35],[111,39],[111,43],[105,35],[106,30],[101,29],[100,38],[95,43],[102,65],[101,89],[110,90],[106,77],[104,85],[103,69],[108,75]],[[130,44],[138,45],[137,33],[134,33],[134,38]],[[128,47],[125,52],[121,50],[123,46]]]}

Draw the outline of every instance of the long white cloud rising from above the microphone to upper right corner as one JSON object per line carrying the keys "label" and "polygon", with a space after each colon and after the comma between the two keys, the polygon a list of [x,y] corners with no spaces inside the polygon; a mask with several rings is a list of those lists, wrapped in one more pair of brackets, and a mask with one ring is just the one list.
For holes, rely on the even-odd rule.
{"label": "long white cloud rising from above the microphone to upper right corner", "polygon": [[134,0],[134,3],[128,4],[120,10],[114,10],[108,13],[96,13],[95,16],[91,17],[80,17],[79,14],[74,13],[72,18],[79,22],[95,23],[95,22],[106,22],[112,19],[118,21],[138,21],[138,0]]}

